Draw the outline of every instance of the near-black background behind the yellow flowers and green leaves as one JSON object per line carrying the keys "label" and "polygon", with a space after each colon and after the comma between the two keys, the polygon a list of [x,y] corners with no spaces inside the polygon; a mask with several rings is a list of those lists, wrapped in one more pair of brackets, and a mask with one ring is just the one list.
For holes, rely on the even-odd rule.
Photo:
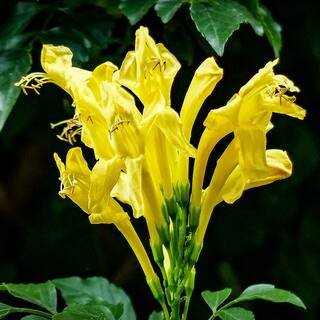
{"label": "near-black background behind the yellow flowers and green leaves", "polygon": [[[76,64],[88,69],[105,60],[120,65],[126,51],[133,48],[136,28],[144,25],[182,64],[173,86],[173,106],[179,110],[193,72],[206,57],[215,56],[196,31],[187,6],[166,25],[151,9],[131,27],[125,17],[112,11],[111,4],[105,10],[90,1],[39,3],[50,3],[52,9],[37,15],[29,26],[30,30],[42,30],[33,43],[33,71],[41,70],[41,42],[69,44],[76,50]],[[1,2],[2,21],[10,16],[14,4]],[[307,117],[299,121],[275,115],[275,128],[268,136],[269,148],[288,151],[293,176],[247,191],[234,205],[216,208],[197,265],[190,319],[209,317],[201,291],[230,287],[236,294],[260,282],[293,291],[308,309],[255,302],[250,308],[257,319],[315,320],[320,315],[318,11],[316,1],[311,0],[264,4],[283,28],[277,72],[286,74],[301,89],[297,103],[307,109]],[[68,8],[69,13],[59,12],[56,8],[60,7]],[[105,45],[86,46],[82,32],[94,28],[103,33]],[[207,112],[224,105],[274,55],[265,37],[243,25],[227,43],[225,55],[216,58],[225,76],[199,115],[198,134]],[[0,281],[28,283],[102,275],[122,286],[131,296],[138,318],[147,319],[159,307],[125,240],[112,225],[90,225],[78,207],[57,194],[58,171],[52,154],[57,151],[64,157],[69,145],[55,137],[59,129],[51,130],[49,124],[70,117],[70,104],[69,97],[52,85],[44,87],[40,96],[32,92],[21,95],[0,134]],[[144,221],[134,223],[148,246]]]}

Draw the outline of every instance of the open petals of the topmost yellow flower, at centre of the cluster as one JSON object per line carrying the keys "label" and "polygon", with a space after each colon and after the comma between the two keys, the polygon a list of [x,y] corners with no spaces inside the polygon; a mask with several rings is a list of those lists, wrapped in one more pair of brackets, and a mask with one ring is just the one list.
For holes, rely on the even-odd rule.
{"label": "open petals of the topmost yellow flower, at centre of the cluster", "polygon": [[173,79],[180,63],[162,43],[155,43],[147,28],[136,31],[135,50],[129,51],[120,68],[119,81],[144,105],[144,114],[168,107]]}

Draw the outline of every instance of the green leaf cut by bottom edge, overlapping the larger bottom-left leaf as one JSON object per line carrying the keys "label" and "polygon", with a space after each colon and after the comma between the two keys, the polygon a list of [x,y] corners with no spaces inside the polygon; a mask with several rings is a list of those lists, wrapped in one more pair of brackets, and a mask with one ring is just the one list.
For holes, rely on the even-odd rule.
{"label": "green leaf cut by bottom edge, overlapping the larger bottom-left leaf", "polygon": [[55,314],[53,320],[116,320],[107,306],[101,304],[73,304],[61,313]]}

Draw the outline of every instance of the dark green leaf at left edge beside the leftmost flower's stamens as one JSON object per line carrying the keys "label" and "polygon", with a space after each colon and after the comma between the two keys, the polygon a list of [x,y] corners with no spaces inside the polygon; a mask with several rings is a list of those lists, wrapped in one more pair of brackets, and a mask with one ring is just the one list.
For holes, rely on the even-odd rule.
{"label": "dark green leaf at left edge beside the leftmost flower's stamens", "polygon": [[20,89],[14,84],[31,68],[31,56],[26,49],[0,51],[0,130],[2,130]]}

